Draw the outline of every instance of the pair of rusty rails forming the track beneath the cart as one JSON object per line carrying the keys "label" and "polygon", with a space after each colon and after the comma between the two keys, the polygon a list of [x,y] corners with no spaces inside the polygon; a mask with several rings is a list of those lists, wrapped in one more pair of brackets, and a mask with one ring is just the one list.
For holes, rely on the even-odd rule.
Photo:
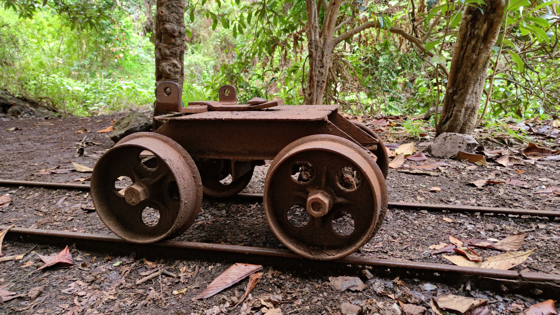
{"label": "pair of rusty rails forming the track beneath the cart", "polygon": [[[34,182],[34,181],[12,181],[0,180],[0,186],[34,186],[57,189],[73,189],[73,190],[90,190],[90,185],[54,183],[54,182]],[[125,188],[116,187],[117,189]],[[238,194],[235,198],[262,200],[259,194]],[[440,205],[440,204],[419,204],[419,203],[389,203],[389,208],[403,210],[429,210],[429,211],[468,211],[479,213],[494,214],[517,214],[517,215],[534,215],[539,217],[556,218],[560,217],[560,211],[553,210],[528,210],[528,209],[509,209],[509,208],[491,208],[478,206],[460,206],[460,205]],[[1,226],[0,229],[7,228]],[[392,260],[371,258],[362,256],[347,256],[338,260],[324,262],[313,261],[296,255],[288,250],[279,250],[273,248],[249,247],[223,245],[214,243],[186,242],[176,240],[166,240],[150,244],[137,244],[125,241],[110,234],[96,233],[78,233],[68,231],[55,231],[46,229],[32,228],[12,228],[7,234],[7,238],[17,239],[24,242],[43,243],[48,245],[68,245],[76,244],[88,250],[115,251],[119,253],[129,252],[130,250],[144,251],[148,255],[155,255],[156,252],[161,253],[162,257],[181,256],[181,253],[194,253],[197,256],[209,255],[212,259],[232,259],[242,258],[245,262],[262,262],[273,260],[274,264],[278,264],[278,260],[296,261],[306,267],[310,265],[322,264],[338,264],[353,266],[371,266],[375,270],[382,273],[390,273],[401,276],[401,278],[421,278],[424,276],[432,281],[452,283],[468,277],[478,279],[480,284],[496,288],[496,284],[501,284],[501,289],[519,289],[524,293],[531,294],[540,293],[539,297],[557,297],[560,294],[560,275],[544,274],[539,272],[524,272],[515,270],[496,270],[479,267],[464,267],[446,264],[433,264],[429,262],[416,262],[407,260]],[[192,256],[188,256],[192,258]],[[198,257],[197,257],[198,258]],[[437,279],[434,279],[437,278]],[[498,282],[496,282],[498,281]],[[538,289],[538,290],[536,290]]]}

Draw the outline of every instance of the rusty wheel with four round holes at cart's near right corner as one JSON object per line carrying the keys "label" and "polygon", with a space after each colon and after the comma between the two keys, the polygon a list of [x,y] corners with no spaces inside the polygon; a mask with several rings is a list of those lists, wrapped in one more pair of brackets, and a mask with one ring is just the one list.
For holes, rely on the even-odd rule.
{"label": "rusty wheel with four round holes at cart's near right corner", "polygon": [[333,260],[364,245],[387,205],[384,177],[363,148],[310,135],[274,158],[264,185],[270,229],[301,256]]}

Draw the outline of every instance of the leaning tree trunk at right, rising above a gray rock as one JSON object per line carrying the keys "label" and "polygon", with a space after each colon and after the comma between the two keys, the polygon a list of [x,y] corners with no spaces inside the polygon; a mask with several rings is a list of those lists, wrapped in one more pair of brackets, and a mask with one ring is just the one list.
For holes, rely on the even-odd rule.
{"label": "leaning tree trunk at right, rising above a gray rock", "polygon": [[484,13],[477,7],[466,7],[463,12],[437,134],[471,134],[476,128],[488,60],[500,34],[505,6],[503,0],[486,3]]}

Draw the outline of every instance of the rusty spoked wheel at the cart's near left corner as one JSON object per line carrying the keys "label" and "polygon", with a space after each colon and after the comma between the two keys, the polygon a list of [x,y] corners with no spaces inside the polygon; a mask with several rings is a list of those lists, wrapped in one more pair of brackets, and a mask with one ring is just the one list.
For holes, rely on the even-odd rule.
{"label": "rusty spoked wheel at the cart's near left corner", "polygon": [[[115,182],[122,176],[133,184],[119,192]],[[193,159],[174,140],[135,133],[97,161],[91,195],[113,233],[130,242],[151,243],[190,227],[202,204],[202,182]]]}

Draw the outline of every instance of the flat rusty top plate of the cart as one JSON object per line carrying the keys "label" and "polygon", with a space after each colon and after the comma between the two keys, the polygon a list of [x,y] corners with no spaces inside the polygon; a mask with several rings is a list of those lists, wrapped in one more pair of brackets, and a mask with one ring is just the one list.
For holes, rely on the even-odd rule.
{"label": "flat rusty top plate of the cart", "polygon": [[170,114],[157,120],[325,120],[338,105],[281,105],[254,111],[207,111],[198,114]]}

